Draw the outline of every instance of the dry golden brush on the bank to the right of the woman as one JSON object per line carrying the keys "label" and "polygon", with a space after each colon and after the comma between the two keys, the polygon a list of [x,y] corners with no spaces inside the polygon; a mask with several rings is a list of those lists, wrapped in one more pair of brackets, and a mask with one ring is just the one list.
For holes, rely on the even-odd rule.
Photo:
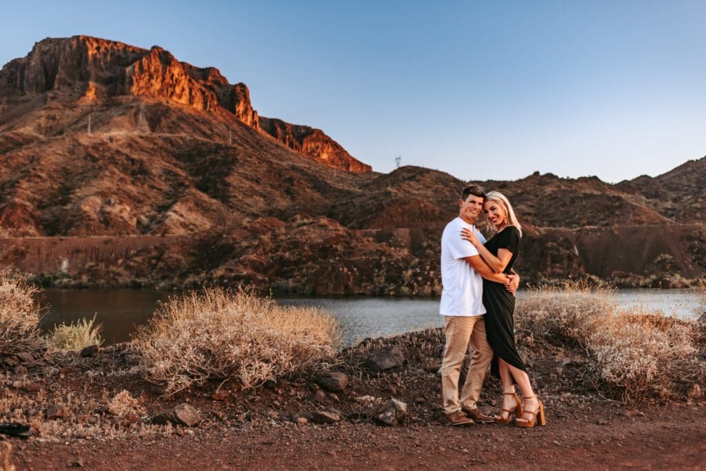
{"label": "dry golden brush on the bank to the right of the woman", "polygon": [[602,391],[624,402],[669,398],[706,374],[693,322],[621,310],[609,288],[568,283],[531,290],[518,303],[517,325],[580,345],[594,360]]}

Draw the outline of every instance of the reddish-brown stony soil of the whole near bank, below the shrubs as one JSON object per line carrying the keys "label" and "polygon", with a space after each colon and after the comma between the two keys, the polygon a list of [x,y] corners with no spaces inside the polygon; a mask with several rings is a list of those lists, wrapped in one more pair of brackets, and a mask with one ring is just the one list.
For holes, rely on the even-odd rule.
{"label": "reddish-brown stony soil of the whole near bank, below the shrubs", "polygon": [[[135,358],[126,345],[106,348],[95,357],[73,353],[54,357],[42,367],[20,365],[21,374],[14,377],[23,377],[24,382],[13,393],[19,391],[26,399],[41,397],[45,406],[61,404],[68,394],[76,398],[64,407],[64,417],[53,421],[28,406],[13,408],[18,422],[23,422],[23,414],[33,415],[28,421],[35,434],[28,441],[6,439],[13,445],[11,462],[18,469],[80,465],[112,470],[174,469],[184,463],[208,469],[699,469],[706,459],[702,428],[706,403],[688,400],[683,393],[687,385],[677,387],[668,403],[621,405],[593,389],[581,350],[539,339],[528,348],[520,338],[520,348],[546,406],[546,427],[449,427],[443,421],[440,381],[433,373],[440,342],[441,330],[432,329],[368,340],[344,350],[328,367],[349,376],[347,388],[339,393],[320,390],[316,372],[310,372],[251,391],[241,391],[232,382],[213,383],[160,398],[155,387],[136,373]],[[369,353],[389,345],[404,350],[405,364],[388,372],[367,371],[364,360]],[[26,367],[29,371],[23,372]],[[97,412],[106,398],[123,389],[138,398],[143,408],[139,417]],[[361,396],[379,400],[361,403],[357,400]],[[372,420],[378,405],[390,397],[409,407],[407,419],[397,427]],[[499,397],[497,382],[489,379],[481,410],[497,412]],[[201,412],[198,427],[148,425],[152,416],[183,402]],[[340,422],[312,423],[313,411],[332,408],[340,411]],[[0,421],[7,420],[8,413],[0,410]],[[300,417],[308,417],[309,423],[297,424]],[[83,428],[83,422],[97,427]]]}

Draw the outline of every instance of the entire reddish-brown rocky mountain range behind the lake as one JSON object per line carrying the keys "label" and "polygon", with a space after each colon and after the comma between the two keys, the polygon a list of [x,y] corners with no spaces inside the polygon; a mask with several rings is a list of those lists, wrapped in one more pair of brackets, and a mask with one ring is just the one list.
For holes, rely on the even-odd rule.
{"label": "entire reddish-brown rocky mountain range behind the lake", "polygon": [[[689,286],[706,271],[705,165],[476,183],[515,204],[525,281]],[[375,173],[160,47],[45,39],[0,71],[0,263],[47,285],[438,294],[465,184]]]}

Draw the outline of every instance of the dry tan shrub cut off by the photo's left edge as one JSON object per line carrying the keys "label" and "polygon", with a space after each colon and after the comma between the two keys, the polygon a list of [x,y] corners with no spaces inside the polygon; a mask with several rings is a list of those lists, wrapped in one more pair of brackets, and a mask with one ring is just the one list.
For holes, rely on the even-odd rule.
{"label": "dry tan shrub cut off by the photo's left edge", "polygon": [[0,358],[36,348],[40,335],[36,293],[22,276],[0,271]]}

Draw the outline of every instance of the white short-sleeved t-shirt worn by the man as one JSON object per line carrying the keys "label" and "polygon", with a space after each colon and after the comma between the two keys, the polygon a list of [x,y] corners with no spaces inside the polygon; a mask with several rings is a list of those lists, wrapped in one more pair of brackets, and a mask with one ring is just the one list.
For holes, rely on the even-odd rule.
{"label": "white short-sleeved t-shirt worn by the man", "polygon": [[446,224],[441,236],[441,307],[442,316],[480,316],[483,307],[483,279],[465,261],[478,255],[478,250],[461,238],[461,228],[470,228],[481,243],[485,238],[475,226],[457,217]]}

